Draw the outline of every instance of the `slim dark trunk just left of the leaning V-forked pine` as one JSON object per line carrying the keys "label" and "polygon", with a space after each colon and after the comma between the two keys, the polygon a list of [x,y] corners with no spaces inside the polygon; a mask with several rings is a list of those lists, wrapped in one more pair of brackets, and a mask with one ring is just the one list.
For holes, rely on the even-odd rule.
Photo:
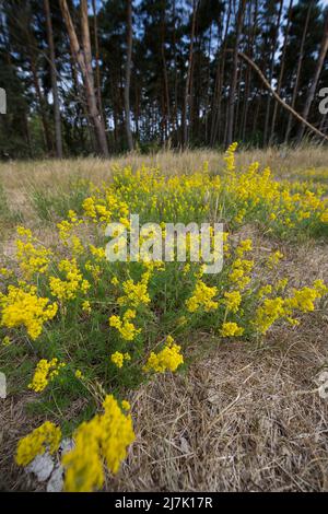
{"label": "slim dark trunk just left of the leaning V-forked pine", "polygon": [[55,55],[54,32],[52,32],[52,22],[51,22],[49,0],[45,0],[45,12],[46,12],[46,20],[47,20],[47,36],[48,36],[50,68],[51,68],[50,71],[51,71],[51,90],[52,90],[52,96],[54,96],[56,153],[57,153],[58,159],[62,159],[62,137],[61,137],[59,95],[58,95],[58,84],[57,84],[56,55]]}

